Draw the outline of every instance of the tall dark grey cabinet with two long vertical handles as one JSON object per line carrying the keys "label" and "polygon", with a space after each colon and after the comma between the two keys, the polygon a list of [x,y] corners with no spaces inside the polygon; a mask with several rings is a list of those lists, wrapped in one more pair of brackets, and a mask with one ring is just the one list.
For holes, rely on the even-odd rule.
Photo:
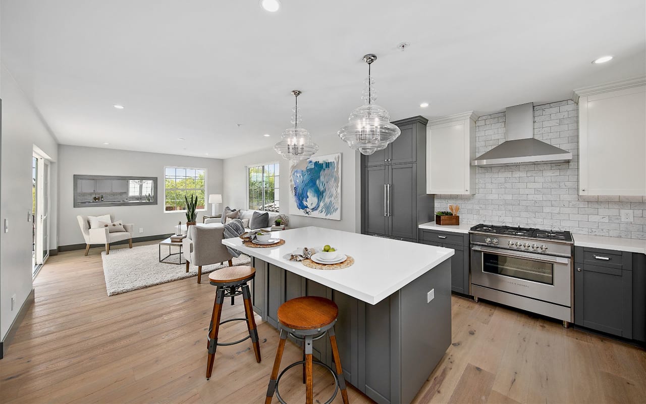
{"label": "tall dark grey cabinet with two long vertical handles", "polygon": [[426,194],[427,122],[422,116],[393,122],[401,129],[397,140],[361,156],[362,233],[415,242],[417,225],[433,220],[433,195]]}

